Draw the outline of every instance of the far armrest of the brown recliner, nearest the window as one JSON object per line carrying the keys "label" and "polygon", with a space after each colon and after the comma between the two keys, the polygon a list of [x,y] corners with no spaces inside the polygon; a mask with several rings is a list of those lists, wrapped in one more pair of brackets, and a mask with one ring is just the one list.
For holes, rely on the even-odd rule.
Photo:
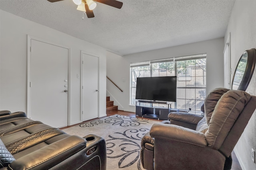
{"label": "far armrest of the brown recliner, nearest the window", "polygon": [[184,112],[171,112],[169,113],[168,118],[170,119],[170,124],[195,130],[196,125],[203,116]]}

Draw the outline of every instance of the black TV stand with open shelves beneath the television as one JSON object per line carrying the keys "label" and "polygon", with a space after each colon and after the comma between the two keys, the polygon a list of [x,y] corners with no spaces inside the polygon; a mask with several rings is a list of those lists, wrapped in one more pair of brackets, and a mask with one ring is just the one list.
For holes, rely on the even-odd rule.
{"label": "black TV stand with open shelves beneath the television", "polygon": [[[143,106],[141,105],[143,104]],[[149,105],[146,105],[149,104]],[[167,107],[159,107],[153,106],[153,104],[165,104]],[[150,101],[150,100],[138,100],[136,102],[136,115],[141,117],[148,117],[154,119],[164,119],[168,120],[168,114],[170,112],[179,111],[179,109],[174,109],[170,107],[171,104],[168,102],[157,102],[157,101]]]}

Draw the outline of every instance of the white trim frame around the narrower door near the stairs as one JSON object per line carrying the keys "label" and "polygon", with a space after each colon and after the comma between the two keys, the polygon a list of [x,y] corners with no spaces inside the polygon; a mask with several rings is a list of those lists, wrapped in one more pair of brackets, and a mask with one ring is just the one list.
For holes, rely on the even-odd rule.
{"label": "white trim frame around the narrower door near the stairs", "polygon": [[[81,79],[80,79],[80,83],[81,83],[81,92],[80,92],[80,98],[81,98],[81,122],[83,122],[83,54],[86,55],[91,55],[94,57],[98,57],[98,90],[100,89],[100,56],[92,54],[92,53],[88,53],[86,51],[82,51],[81,50]],[[98,117],[100,117],[100,90],[98,91]]]}

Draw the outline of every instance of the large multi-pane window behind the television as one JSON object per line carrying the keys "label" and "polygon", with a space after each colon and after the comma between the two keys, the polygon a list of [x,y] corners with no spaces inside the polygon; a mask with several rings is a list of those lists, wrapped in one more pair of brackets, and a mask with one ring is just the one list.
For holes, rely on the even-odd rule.
{"label": "large multi-pane window behind the television", "polygon": [[177,76],[177,100],[172,107],[200,111],[206,97],[206,54],[130,64],[130,104],[136,104],[137,77]]}

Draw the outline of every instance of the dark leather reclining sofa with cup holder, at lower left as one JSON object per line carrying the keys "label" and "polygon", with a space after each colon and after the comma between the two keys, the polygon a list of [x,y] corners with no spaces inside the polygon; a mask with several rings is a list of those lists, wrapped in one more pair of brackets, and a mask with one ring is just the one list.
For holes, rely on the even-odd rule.
{"label": "dark leather reclining sofa with cup holder, at lower left", "polygon": [[0,169],[106,170],[106,143],[96,135],[68,135],[24,112],[0,111]]}

